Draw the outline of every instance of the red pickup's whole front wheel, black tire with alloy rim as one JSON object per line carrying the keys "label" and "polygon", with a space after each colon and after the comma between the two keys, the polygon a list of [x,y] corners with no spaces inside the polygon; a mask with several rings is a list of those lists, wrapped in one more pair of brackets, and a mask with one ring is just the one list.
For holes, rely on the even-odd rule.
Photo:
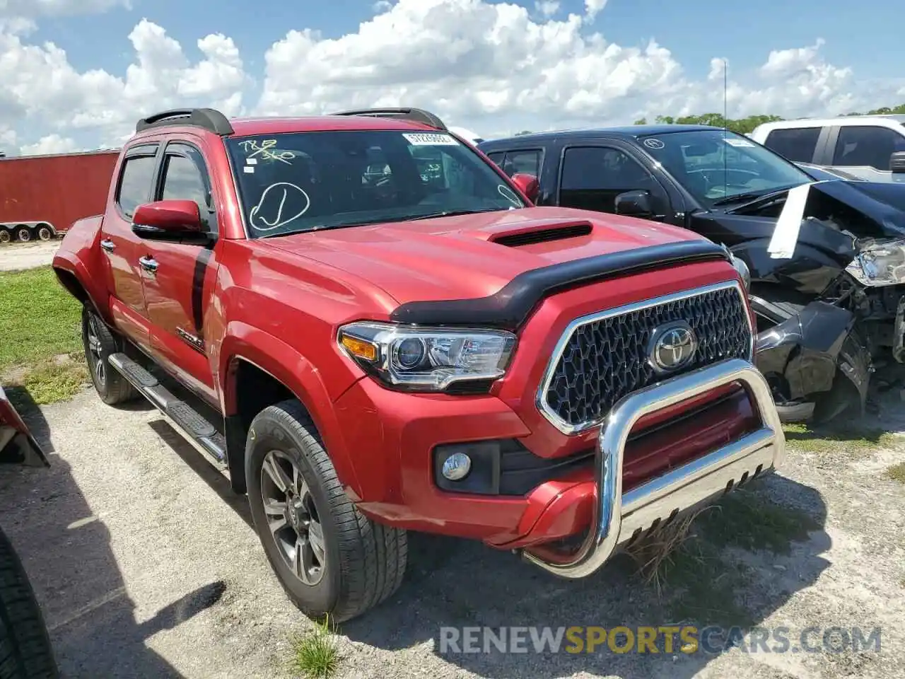
{"label": "red pickup's whole front wheel, black tire with alloy rim", "polygon": [[300,403],[252,421],[245,445],[255,530],[292,602],[309,617],[357,617],[402,584],[405,531],[357,510]]}

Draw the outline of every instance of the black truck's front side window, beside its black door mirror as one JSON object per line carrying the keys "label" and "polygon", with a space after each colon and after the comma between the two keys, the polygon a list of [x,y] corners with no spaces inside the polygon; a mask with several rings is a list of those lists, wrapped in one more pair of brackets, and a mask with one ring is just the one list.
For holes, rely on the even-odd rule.
{"label": "black truck's front side window, beside its black door mirror", "polygon": [[653,177],[618,148],[567,148],[563,158],[559,205],[615,213],[615,197],[624,191],[652,191]]}

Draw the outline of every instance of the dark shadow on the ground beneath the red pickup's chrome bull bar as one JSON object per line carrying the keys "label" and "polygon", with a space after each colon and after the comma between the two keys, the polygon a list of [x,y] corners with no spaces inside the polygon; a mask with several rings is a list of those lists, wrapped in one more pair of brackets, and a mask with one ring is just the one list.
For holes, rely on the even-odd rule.
{"label": "dark shadow on the ground beneath the red pickup's chrome bull bar", "polygon": [[[439,647],[441,627],[549,626],[555,633],[558,627],[603,626],[609,630],[615,626],[637,628],[687,622],[699,629],[718,625],[723,629],[739,626],[743,631],[750,630],[795,592],[814,584],[829,565],[820,555],[830,547],[830,538],[823,530],[826,507],[814,489],[773,475],[757,484],[756,494],[766,501],[764,506],[774,509],[776,502],[791,499],[795,508],[789,512],[802,516],[806,524],[806,530],[800,526],[795,529],[803,541],[787,541],[787,553],[783,553],[781,545],[778,553],[769,549],[773,532],[789,531],[781,514],[774,511],[764,524],[762,535],[742,535],[740,540],[744,543],[752,535],[760,537],[766,540],[767,549],[744,549],[735,540],[732,521],[749,520],[751,512],[739,512],[738,502],[730,502],[729,511],[717,512],[703,521],[707,524],[706,534],[712,533],[714,540],[700,540],[685,563],[677,561],[660,597],[653,585],[642,581],[633,562],[625,556],[614,559],[590,578],[567,581],[555,579],[510,553],[490,550],[475,542],[410,534],[409,572],[403,588],[382,607],[349,621],[339,631],[353,641],[387,650],[409,648],[433,639],[433,652],[446,662],[493,679],[540,679],[582,671],[623,679],[692,677],[714,657],[705,652],[707,649],[691,655],[678,651],[614,654],[603,644],[592,654],[570,654],[561,649],[559,653],[538,656],[526,635],[527,654],[501,653],[493,646],[490,653],[444,654]],[[771,525],[774,521],[779,522]],[[750,541],[757,548],[764,540]],[[690,545],[698,541],[695,539]],[[710,559],[713,555],[719,560],[697,560],[699,556]],[[626,643],[625,637],[619,638],[621,644]],[[717,643],[719,636],[711,640]],[[635,641],[635,649],[636,644]],[[563,649],[566,646],[569,641],[564,638]]]}

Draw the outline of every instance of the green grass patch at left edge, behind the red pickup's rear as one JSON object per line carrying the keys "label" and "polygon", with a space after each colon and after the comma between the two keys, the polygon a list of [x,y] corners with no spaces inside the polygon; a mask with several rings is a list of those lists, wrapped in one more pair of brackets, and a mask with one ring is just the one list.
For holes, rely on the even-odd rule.
{"label": "green grass patch at left edge, behind the red pickup's rear", "polygon": [[88,379],[81,306],[49,266],[0,273],[0,328],[0,381],[17,406],[70,398]]}

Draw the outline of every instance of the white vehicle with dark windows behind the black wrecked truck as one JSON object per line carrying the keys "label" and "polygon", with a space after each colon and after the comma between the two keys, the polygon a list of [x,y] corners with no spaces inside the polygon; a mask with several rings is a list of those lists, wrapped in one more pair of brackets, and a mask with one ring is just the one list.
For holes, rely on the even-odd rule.
{"label": "white vehicle with dark windows behind the black wrecked truck", "polygon": [[749,137],[793,162],[905,184],[905,115],[779,120]]}

